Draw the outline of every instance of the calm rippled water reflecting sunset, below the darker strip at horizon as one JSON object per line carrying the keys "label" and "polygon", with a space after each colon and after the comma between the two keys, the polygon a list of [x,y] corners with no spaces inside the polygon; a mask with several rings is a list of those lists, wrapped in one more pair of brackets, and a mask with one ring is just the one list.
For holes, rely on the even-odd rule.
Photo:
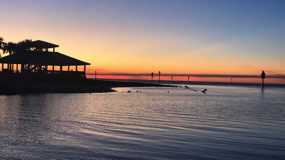
{"label": "calm rippled water reflecting sunset, below the darker strip at horizon", "polygon": [[0,159],[285,159],[284,88],[189,87],[0,96]]}

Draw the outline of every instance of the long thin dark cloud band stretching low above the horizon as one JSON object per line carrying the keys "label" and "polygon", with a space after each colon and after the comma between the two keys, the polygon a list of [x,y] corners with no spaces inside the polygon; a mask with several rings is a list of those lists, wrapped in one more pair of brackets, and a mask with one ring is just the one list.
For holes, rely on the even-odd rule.
{"label": "long thin dark cloud band stretching low above the horizon", "polygon": [[[94,73],[87,75],[95,75]],[[97,75],[105,76],[150,76],[146,73],[98,73]],[[155,74],[158,76],[158,74]],[[160,74],[160,76],[191,76],[191,77],[200,77],[200,78],[261,78],[261,75],[234,75],[234,74]],[[271,74],[266,75],[266,78],[281,78],[285,79],[285,74]]]}

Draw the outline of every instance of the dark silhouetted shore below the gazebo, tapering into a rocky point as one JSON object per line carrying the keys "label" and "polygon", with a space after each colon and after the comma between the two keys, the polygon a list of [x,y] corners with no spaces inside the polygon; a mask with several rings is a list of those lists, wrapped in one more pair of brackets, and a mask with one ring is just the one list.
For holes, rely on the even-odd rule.
{"label": "dark silhouetted shore below the gazebo, tapering into a rocky point", "polygon": [[171,85],[91,79],[0,79],[0,95],[24,93],[100,93],[115,87],[171,87]]}

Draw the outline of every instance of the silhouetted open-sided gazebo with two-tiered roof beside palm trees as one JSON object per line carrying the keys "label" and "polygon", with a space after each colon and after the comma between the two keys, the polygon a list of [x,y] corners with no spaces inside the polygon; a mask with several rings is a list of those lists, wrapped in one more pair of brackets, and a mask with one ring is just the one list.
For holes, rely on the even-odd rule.
{"label": "silhouetted open-sided gazebo with two-tiered roof beside palm trees", "polygon": [[[27,44],[25,50],[0,58],[1,73],[86,77],[86,65],[90,63],[55,52],[56,47],[59,45],[41,40],[32,41]],[[48,51],[50,48],[53,48],[53,52]],[[4,68],[4,64],[7,64],[7,68]],[[9,64],[12,64],[12,67]],[[16,70],[14,70],[14,64],[16,64]],[[48,66],[52,66],[52,70],[48,70]],[[60,67],[59,71],[55,70],[55,66]],[[68,70],[63,71],[63,66],[68,66]],[[70,66],[75,66],[75,71],[70,70]],[[78,66],[84,66],[84,71],[78,71]]]}

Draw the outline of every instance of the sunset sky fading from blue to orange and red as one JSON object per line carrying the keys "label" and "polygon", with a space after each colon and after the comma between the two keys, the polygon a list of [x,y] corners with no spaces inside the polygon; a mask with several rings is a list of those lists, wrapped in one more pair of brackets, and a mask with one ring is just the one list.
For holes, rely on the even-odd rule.
{"label": "sunset sky fading from blue to orange and red", "polygon": [[0,36],[59,45],[87,77],[285,84],[285,1],[1,1]]}

